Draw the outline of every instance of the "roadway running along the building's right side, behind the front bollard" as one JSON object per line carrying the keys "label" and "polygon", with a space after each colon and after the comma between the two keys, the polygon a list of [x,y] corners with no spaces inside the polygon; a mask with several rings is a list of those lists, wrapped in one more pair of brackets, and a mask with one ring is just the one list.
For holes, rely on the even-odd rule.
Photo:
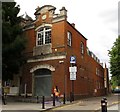
{"label": "roadway running along the building's right side, behind the front bollard", "polygon": [[[92,98],[86,98],[86,99],[82,99],[79,100],[78,102],[74,103],[74,104],[70,104],[70,105],[66,105],[66,106],[62,106],[62,107],[57,107],[57,108],[53,108],[52,112],[54,111],[58,111],[58,110],[72,110],[72,111],[77,111],[78,110],[80,112],[99,112],[101,110],[101,99],[103,97],[92,97]],[[108,95],[106,96],[107,98],[107,102],[108,102],[108,107],[112,106],[112,105],[116,105],[118,103],[120,103],[120,96],[118,94],[115,95]],[[117,111],[118,112],[118,111]]]}

